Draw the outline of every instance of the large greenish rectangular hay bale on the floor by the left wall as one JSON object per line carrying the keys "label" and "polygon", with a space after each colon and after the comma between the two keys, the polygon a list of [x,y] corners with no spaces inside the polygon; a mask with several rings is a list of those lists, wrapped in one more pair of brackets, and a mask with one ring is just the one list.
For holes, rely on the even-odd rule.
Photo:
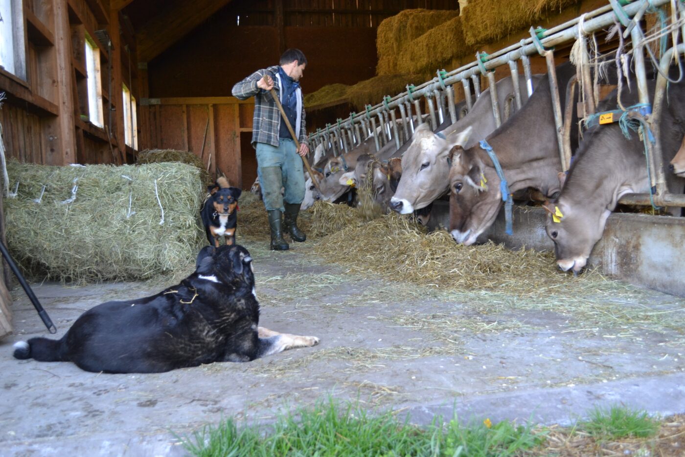
{"label": "large greenish rectangular hay bale on the floor by the left wall", "polygon": [[[12,161],[8,173],[11,189],[19,183],[16,198],[5,199],[8,246],[33,279],[149,279],[186,269],[206,244],[199,223],[204,189],[195,166],[53,167]],[[75,200],[65,202],[75,185]],[[129,201],[135,213],[129,214]]]}

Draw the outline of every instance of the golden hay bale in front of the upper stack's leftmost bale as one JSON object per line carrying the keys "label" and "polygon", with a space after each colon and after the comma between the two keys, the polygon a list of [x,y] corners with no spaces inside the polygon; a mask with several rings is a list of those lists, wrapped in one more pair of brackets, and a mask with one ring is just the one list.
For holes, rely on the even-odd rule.
{"label": "golden hay bale in front of the upper stack's leftmost bale", "polygon": [[475,54],[473,46],[464,43],[461,16],[446,21],[412,40],[397,58],[397,69],[403,73],[435,75],[449,67],[452,60]]}

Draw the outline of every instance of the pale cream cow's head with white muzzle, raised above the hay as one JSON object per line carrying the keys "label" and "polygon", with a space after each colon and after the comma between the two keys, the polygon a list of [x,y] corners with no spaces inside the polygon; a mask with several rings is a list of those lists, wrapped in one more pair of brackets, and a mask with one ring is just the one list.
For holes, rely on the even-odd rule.
{"label": "pale cream cow's head with white muzzle, raised above the hay", "polygon": [[400,214],[426,207],[447,190],[449,185],[449,152],[464,145],[471,127],[449,136],[434,133],[428,124],[416,128],[409,148],[402,157],[402,176],[390,207]]}

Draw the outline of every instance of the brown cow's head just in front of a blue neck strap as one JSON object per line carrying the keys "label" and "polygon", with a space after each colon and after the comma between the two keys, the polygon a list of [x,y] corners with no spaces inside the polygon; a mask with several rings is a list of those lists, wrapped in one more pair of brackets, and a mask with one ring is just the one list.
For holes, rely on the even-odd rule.
{"label": "brown cow's head just in front of a blue neck strap", "polygon": [[475,148],[451,152],[449,168],[449,231],[456,242],[471,246],[501,207],[499,178],[486,167]]}

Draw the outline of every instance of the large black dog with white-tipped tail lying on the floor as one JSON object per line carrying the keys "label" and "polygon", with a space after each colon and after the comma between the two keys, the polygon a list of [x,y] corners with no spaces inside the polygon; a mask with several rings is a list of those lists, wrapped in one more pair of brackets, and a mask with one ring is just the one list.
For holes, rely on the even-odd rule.
{"label": "large black dog with white-tipped tail lying on the floor", "polygon": [[212,362],[247,362],[319,343],[259,323],[251,257],[242,246],[206,246],[179,285],[82,314],[61,340],[14,344],[14,357],[74,362],[86,371],[159,373]]}

